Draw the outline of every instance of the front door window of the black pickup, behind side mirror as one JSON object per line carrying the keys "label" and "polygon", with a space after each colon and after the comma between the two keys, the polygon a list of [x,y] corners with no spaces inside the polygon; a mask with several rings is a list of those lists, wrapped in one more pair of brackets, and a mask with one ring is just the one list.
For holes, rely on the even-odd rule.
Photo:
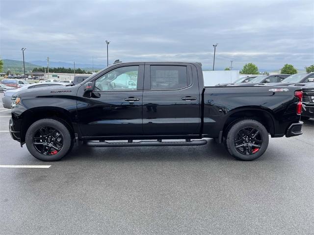
{"label": "front door window of the black pickup, behind side mirror", "polygon": [[138,66],[126,66],[105,73],[95,82],[96,91],[133,91],[137,88]]}

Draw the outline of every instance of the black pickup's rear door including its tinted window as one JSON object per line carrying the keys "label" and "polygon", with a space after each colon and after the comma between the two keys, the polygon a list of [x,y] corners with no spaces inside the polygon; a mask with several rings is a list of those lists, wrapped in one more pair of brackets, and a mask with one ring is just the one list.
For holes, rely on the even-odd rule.
{"label": "black pickup's rear door including its tinted window", "polygon": [[200,104],[194,65],[145,63],[144,135],[199,134]]}

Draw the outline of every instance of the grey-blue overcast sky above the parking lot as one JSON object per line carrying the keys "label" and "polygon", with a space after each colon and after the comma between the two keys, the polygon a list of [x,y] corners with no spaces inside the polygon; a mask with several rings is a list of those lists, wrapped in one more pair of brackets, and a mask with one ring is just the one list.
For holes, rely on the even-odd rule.
{"label": "grey-blue overcast sky above the parking lot", "polygon": [[106,64],[198,61],[275,70],[314,64],[313,0],[0,0],[0,57]]}

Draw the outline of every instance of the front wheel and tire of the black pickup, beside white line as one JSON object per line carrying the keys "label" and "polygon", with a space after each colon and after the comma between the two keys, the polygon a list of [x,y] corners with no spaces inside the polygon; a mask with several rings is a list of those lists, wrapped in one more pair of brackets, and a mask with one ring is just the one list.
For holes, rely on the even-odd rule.
{"label": "front wheel and tire of the black pickup, beside white line", "polygon": [[31,124],[26,131],[25,141],[31,155],[49,162],[60,160],[73,147],[69,129],[62,122],[50,118]]}

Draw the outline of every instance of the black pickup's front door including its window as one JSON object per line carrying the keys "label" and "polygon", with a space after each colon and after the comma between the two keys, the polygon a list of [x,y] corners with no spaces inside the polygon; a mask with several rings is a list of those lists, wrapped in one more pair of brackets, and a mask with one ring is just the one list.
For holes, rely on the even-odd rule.
{"label": "black pickup's front door including its window", "polygon": [[91,98],[78,96],[78,119],[84,137],[142,135],[143,63],[115,66],[93,80]]}

